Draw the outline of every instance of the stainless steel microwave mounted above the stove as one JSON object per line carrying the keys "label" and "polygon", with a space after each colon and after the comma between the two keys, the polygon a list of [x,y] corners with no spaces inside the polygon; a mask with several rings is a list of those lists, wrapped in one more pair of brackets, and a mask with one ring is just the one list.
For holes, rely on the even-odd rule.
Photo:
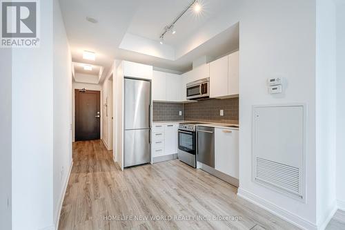
{"label": "stainless steel microwave mounted above the stove", "polygon": [[200,79],[186,85],[187,99],[208,99],[210,97],[210,78]]}

